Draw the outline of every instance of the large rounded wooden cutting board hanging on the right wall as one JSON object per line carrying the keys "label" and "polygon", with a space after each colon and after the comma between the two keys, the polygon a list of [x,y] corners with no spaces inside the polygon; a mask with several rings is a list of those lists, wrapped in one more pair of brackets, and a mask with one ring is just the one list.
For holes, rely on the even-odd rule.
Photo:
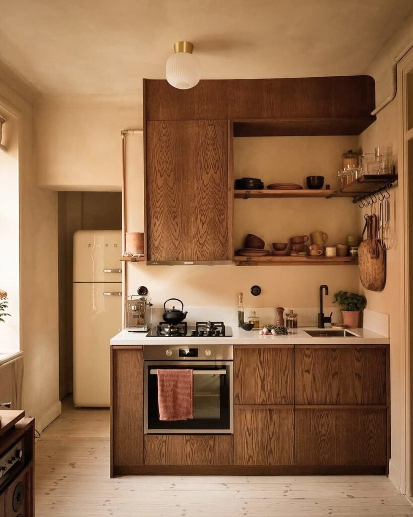
{"label": "large rounded wooden cutting board hanging on the right wall", "polygon": [[378,258],[371,256],[371,239],[363,240],[358,248],[360,281],[369,291],[382,291],[386,285],[386,251],[378,246]]}

